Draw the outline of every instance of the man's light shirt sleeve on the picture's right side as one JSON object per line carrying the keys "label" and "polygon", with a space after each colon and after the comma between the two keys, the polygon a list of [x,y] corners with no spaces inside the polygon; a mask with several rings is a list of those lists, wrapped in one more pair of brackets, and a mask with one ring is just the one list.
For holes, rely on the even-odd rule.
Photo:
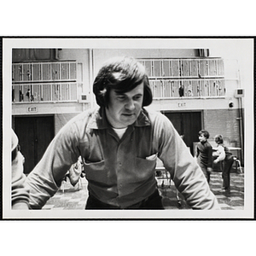
{"label": "man's light shirt sleeve on the picture's right side", "polygon": [[188,205],[193,209],[220,209],[200,166],[169,119],[161,117],[157,126],[159,135],[155,136],[160,137],[159,158]]}

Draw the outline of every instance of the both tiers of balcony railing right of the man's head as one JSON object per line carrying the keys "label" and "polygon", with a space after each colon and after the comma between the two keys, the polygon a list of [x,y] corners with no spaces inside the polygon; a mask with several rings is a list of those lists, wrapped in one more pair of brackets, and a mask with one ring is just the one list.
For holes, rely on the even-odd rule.
{"label": "both tiers of balcony railing right of the man's head", "polygon": [[141,59],[154,99],[225,96],[221,58]]}

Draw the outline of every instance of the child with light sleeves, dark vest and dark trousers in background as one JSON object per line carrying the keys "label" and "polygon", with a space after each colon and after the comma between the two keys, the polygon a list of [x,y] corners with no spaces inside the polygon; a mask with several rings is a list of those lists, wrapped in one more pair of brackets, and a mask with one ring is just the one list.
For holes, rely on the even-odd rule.
{"label": "child with light sleeves, dark vest and dark trousers in background", "polygon": [[230,171],[234,162],[232,153],[230,149],[224,146],[224,140],[222,135],[216,135],[214,137],[215,143],[217,143],[217,150],[213,153],[214,157],[217,157],[213,160],[214,164],[217,164],[219,161],[223,160],[223,171],[222,171],[222,178],[223,178],[223,186],[221,189],[226,191],[230,190]]}

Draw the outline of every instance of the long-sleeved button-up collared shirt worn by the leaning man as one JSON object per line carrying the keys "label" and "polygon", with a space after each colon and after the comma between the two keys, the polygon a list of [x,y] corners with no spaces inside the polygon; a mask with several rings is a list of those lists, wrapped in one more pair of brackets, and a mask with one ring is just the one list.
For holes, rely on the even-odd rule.
{"label": "long-sleeved button-up collared shirt worn by the leaning man", "polygon": [[103,108],[71,119],[27,177],[32,208],[43,207],[55,194],[79,156],[90,195],[104,203],[125,208],[152,195],[157,188],[154,172],[159,157],[191,207],[218,209],[206,178],[170,120],[144,108],[121,139],[108,124]]}

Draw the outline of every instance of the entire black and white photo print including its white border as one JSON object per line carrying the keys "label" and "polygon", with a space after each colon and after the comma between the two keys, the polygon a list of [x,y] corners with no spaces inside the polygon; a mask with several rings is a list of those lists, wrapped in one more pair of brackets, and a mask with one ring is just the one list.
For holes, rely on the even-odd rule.
{"label": "entire black and white photo print including its white border", "polygon": [[3,219],[253,219],[253,46],[3,38]]}

